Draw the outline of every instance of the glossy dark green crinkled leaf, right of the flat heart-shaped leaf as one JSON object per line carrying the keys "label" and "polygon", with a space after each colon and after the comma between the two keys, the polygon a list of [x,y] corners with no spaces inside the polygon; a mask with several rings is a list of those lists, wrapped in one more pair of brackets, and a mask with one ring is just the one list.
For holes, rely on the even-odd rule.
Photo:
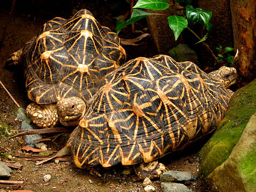
{"label": "glossy dark green crinkled leaf, right of the flat heart-shaped leaf", "polygon": [[200,8],[194,9],[191,5],[186,6],[186,13],[187,19],[191,24],[200,23],[202,25],[205,25],[212,17],[211,11],[205,11]]}

